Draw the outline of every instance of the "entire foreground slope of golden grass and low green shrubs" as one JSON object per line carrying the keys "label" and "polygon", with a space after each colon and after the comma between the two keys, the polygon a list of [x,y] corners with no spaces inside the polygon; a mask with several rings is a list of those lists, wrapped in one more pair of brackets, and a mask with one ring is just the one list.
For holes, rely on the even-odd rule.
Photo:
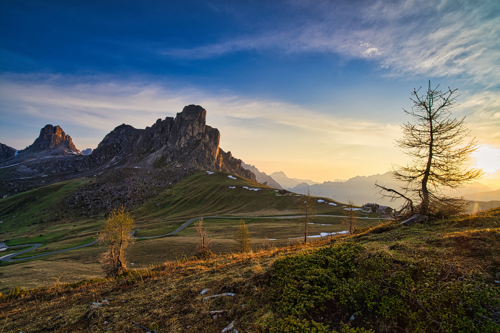
{"label": "entire foreground slope of golden grass and low green shrubs", "polygon": [[[30,333],[128,332],[132,321],[157,332],[220,332],[232,321],[245,332],[338,331],[340,322],[352,332],[498,332],[499,225],[493,209],[409,227],[390,222],[333,242],[167,262],[115,281],[12,294],[0,321],[4,332]],[[202,302],[202,289],[236,296]],[[89,312],[102,299],[110,306]],[[226,311],[212,318],[215,310]]]}

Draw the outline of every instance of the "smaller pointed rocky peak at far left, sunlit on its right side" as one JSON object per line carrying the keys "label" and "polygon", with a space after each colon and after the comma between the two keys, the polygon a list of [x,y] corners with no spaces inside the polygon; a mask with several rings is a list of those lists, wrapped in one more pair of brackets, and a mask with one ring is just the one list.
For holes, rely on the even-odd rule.
{"label": "smaller pointed rocky peak at far left, sunlit on its right side", "polygon": [[71,141],[71,137],[64,133],[59,125],[45,125],[40,130],[40,135],[34,140],[33,144],[23,149],[22,152],[38,153],[44,150],[56,150],[53,155],[62,152],[80,153]]}

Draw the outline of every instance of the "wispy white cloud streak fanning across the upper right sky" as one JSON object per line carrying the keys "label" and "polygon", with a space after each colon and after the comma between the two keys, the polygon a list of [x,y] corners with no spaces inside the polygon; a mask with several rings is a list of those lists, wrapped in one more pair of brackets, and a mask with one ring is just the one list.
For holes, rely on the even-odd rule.
{"label": "wispy white cloud streak fanning across the upper right sky", "polygon": [[[377,1],[338,10],[320,7],[309,20],[292,19],[260,34],[240,35],[164,55],[207,58],[247,50],[334,52],[348,58],[372,58],[394,75],[460,75],[486,86],[500,83],[500,2]],[[348,16],[346,19],[345,16]]]}

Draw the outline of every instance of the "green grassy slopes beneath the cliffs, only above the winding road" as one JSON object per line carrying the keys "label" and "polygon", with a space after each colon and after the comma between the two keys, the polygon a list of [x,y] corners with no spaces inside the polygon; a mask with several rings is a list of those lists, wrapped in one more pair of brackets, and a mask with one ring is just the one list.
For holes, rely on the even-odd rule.
{"label": "green grassy slopes beneath the cliffs, only above the winding road", "polygon": [[[271,188],[248,179],[230,179],[225,172],[208,175],[196,172],[146,204],[131,211],[137,218],[137,236],[160,235],[189,218],[207,215],[293,214],[297,197],[275,196]],[[75,179],[41,187],[0,200],[0,232],[7,232],[8,245],[27,242],[48,243],[88,237],[94,234],[103,216],[83,218],[66,213],[65,198],[91,181]],[[260,186],[259,186],[260,185]],[[237,188],[230,189],[229,186]],[[262,188],[249,191],[242,186]],[[320,199],[320,198],[318,198]],[[323,198],[324,199],[324,198]],[[330,202],[333,202],[330,200]],[[318,212],[340,214],[340,209],[318,203]],[[147,233],[141,232],[147,230]],[[39,235],[43,236],[39,236]],[[75,241],[75,244],[80,243]]]}

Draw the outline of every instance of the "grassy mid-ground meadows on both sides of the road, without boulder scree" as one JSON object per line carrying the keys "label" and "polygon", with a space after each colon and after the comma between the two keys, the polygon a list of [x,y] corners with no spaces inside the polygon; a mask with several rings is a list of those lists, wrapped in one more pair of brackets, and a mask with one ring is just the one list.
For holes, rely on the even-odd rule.
{"label": "grassy mid-ground meadows on both sides of the road, without boulder scree", "polygon": [[[201,215],[261,216],[295,213],[299,197],[275,196],[271,188],[258,186],[257,183],[238,176],[237,180],[234,180],[227,177],[228,175],[224,172],[211,175],[206,172],[195,173],[151,198],[143,206],[138,206],[132,211],[137,217],[135,236],[165,234],[175,230],[189,218]],[[90,180],[92,178],[65,181],[0,200],[0,217],[4,221],[0,224],[0,232],[7,231],[2,235],[2,238],[9,239],[7,244],[43,245],[19,258],[70,248],[92,240],[100,229],[104,217],[86,218],[71,215],[65,212],[64,205],[60,206],[70,193],[88,184]],[[230,189],[229,186],[236,188]],[[261,188],[261,190],[250,191],[243,189],[242,186]],[[341,215],[341,205],[318,203],[316,207],[319,213]],[[268,242],[266,238],[278,239],[272,241],[272,244],[282,246],[288,244],[287,238],[300,236],[296,219],[245,220],[253,234],[255,246]],[[232,251],[230,238],[237,219],[207,219],[205,223],[213,236],[215,252]],[[316,223],[332,224],[332,226],[315,226],[315,234],[343,230],[338,218],[318,217]],[[376,225],[379,221],[363,220],[362,223],[363,226]],[[130,256],[136,265],[157,265],[182,256],[191,256],[195,244],[196,239],[191,226],[175,236],[139,241],[130,249]],[[78,281],[78,274],[100,277],[102,272],[94,268],[100,252],[101,249],[94,245],[80,250],[28,259],[25,262],[0,262],[0,291],[8,292],[13,286],[35,288],[51,282],[52,277],[61,277],[61,281],[64,282]],[[70,269],[61,270],[59,265],[55,265],[56,261],[61,260],[71,263],[67,265]],[[35,268],[26,269],[26,267]]]}

